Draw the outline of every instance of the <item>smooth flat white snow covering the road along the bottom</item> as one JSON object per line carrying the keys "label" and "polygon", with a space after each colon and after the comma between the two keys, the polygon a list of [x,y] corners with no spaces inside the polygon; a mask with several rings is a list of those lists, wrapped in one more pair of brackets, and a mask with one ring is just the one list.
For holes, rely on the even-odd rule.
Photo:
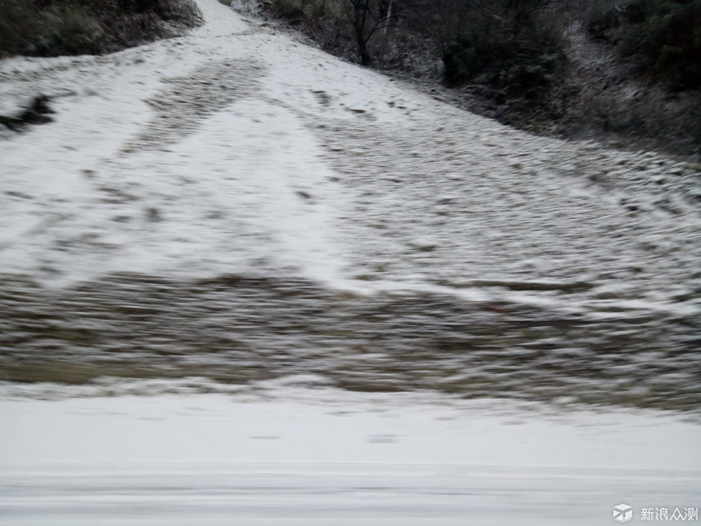
{"label": "smooth flat white snow covering the road along the bottom", "polygon": [[4,398],[0,417],[12,422],[0,433],[0,515],[13,526],[587,525],[622,501],[695,506],[701,490],[699,424],[655,412],[280,382]]}

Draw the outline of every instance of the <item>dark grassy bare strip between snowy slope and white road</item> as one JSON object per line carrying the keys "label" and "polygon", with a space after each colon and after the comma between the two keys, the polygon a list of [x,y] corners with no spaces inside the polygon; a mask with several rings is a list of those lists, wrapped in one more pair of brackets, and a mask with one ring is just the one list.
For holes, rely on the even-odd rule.
{"label": "dark grassy bare strip between snowy slope and white road", "polygon": [[123,274],[55,291],[2,276],[0,379],[233,384],[322,375],[354,391],[696,412],[695,316],[572,316],[441,294],[364,297],[304,280]]}

